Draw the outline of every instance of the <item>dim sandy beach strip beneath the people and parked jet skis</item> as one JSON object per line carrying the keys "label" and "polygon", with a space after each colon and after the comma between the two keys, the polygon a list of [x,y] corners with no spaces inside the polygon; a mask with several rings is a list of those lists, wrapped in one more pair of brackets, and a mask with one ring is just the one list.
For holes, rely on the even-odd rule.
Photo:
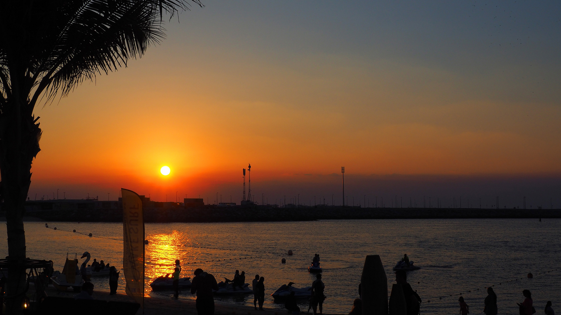
{"label": "dim sandy beach strip beneath the people and parked jet skis", "polygon": [[[49,297],[68,297],[72,298],[76,293],[67,291],[61,292],[49,286],[46,290]],[[94,290],[94,299],[106,301],[119,301],[119,302],[134,302],[126,294],[109,295],[108,291]],[[165,312],[166,315],[196,315],[197,309],[195,308],[194,301],[174,300],[174,299],[160,299],[145,297],[144,298],[144,313],[140,308],[137,315],[159,315]],[[282,309],[264,308],[264,311],[256,311],[252,307],[243,307],[237,305],[219,304],[215,302],[215,314],[231,314],[231,315],[279,315],[288,314]],[[327,313],[324,313],[327,314]]]}

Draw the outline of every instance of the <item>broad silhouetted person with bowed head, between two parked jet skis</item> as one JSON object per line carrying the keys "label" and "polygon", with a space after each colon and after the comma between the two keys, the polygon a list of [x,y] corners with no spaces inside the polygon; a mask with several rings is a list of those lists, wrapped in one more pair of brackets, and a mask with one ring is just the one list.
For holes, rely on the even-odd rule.
{"label": "broad silhouetted person with bowed head, between two parked jet skis", "polygon": [[214,315],[214,296],[212,290],[218,290],[216,279],[211,274],[196,268],[191,282],[191,294],[197,294],[195,306],[199,315]]}

